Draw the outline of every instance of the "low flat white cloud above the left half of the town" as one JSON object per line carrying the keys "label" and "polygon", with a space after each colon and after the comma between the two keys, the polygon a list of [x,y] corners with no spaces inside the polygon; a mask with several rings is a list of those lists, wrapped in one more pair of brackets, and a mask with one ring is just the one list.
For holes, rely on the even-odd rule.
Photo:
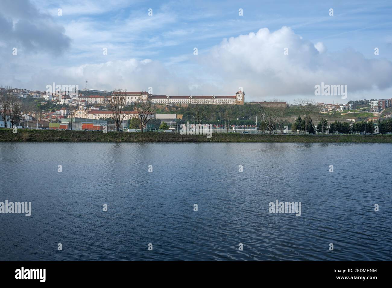
{"label": "low flat white cloud above the left half of the town", "polygon": [[41,70],[35,74],[30,85],[45,87],[52,82],[59,85],[79,85],[85,88],[85,81],[89,81],[92,89],[111,91],[115,88],[128,91],[147,90],[153,88],[156,94],[178,93],[178,83],[184,90],[185,82],[171,74],[159,61],[151,59],[137,59],[108,61],[100,64],[84,64],[77,67],[53,70]]}

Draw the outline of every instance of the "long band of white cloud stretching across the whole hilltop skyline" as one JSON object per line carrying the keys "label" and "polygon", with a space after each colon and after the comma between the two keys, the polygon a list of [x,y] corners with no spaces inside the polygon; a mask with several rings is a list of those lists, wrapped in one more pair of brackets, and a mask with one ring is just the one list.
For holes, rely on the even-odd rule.
{"label": "long band of white cloud stretching across the whole hilltop skyline", "polygon": [[[127,52],[115,47],[109,46],[108,56],[102,56],[100,45],[94,49],[96,56],[83,54],[84,64],[63,62],[59,67],[38,68],[33,76],[30,67],[14,67],[16,77],[5,75],[9,82],[3,85],[42,90],[56,82],[82,88],[88,80],[89,87],[95,89],[147,90],[152,86],[155,94],[167,95],[232,95],[241,86],[247,101],[315,97],[314,86],[321,82],[348,85],[346,101],[376,98],[373,95],[389,97],[392,86],[390,61],[366,59],[352,49],[329,52],[323,43],[303,39],[288,27],[224,39],[211,49],[199,49],[197,56],[190,50],[189,54],[166,58],[167,63],[157,61],[152,53],[151,59],[125,59]],[[122,59],[109,57],[113,54]],[[93,56],[101,63],[91,63]],[[31,80],[26,80],[27,76]]]}

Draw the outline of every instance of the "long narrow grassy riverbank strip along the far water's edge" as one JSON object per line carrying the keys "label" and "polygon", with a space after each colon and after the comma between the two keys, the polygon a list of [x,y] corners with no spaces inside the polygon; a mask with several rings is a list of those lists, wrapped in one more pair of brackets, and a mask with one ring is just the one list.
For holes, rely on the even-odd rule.
{"label": "long narrow grassy riverbank strip along the far water's edge", "polygon": [[392,135],[252,135],[252,134],[212,134],[180,135],[180,133],[132,133],[102,131],[58,131],[0,129],[0,141],[64,141],[64,142],[387,142],[392,143]]}

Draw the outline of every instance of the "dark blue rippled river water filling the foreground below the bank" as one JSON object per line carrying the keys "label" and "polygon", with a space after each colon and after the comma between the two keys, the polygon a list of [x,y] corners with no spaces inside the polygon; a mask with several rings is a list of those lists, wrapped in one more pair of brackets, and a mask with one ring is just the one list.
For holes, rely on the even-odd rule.
{"label": "dark blue rippled river water filling the foreground below the bank", "polygon": [[391,260],[391,148],[0,143],[0,260]]}

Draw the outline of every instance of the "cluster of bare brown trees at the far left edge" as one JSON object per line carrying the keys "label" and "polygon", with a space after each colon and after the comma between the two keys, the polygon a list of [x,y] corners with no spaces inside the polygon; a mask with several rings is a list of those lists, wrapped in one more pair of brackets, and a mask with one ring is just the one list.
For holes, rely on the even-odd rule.
{"label": "cluster of bare brown trees at the far left edge", "polygon": [[4,127],[7,128],[7,122],[11,127],[23,120],[22,101],[13,94],[12,87],[0,87],[0,116],[4,119]]}

